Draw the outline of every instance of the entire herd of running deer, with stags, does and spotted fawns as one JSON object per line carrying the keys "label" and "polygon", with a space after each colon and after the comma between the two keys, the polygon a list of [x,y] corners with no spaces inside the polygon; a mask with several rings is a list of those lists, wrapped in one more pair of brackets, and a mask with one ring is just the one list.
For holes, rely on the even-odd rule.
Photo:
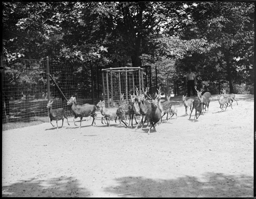
{"label": "entire herd of running deer, with stags, does and spotted fawns", "polygon": [[[186,100],[187,96],[184,96],[184,95],[182,96],[182,100],[185,106],[185,116],[188,115],[187,114],[188,107],[190,109],[189,119],[191,117],[193,110],[195,109],[195,117],[193,119],[193,122],[195,121],[195,118],[198,119],[202,111],[204,115],[206,111],[206,107],[207,107],[207,113],[208,113],[209,103],[212,100],[211,93],[205,92],[202,95],[204,86],[200,91],[197,90],[196,86],[195,86],[195,89],[197,91],[198,99],[194,100],[190,98]],[[134,93],[133,95],[129,94],[131,97],[131,99],[129,100],[127,99],[124,100],[123,94],[122,94],[121,105],[119,106],[117,105],[116,102],[110,99],[110,104],[113,106],[111,108],[105,107],[104,100],[100,101],[96,106],[99,107],[100,109],[101,123],[104,124],[103,123],[103,120],[104,120],[105,124],[109,127],[110,120],[115,120],[116,122],[116,120],[118,119],[120,123],[119,125],[123,125],[125,128],[127,127],[130,128],[130,125],[131,127],[133,127],[133,118],[134,118],[135,122],[137,123],[135,130],[138,129],[138,126],[140,124],[142,125],[140,130],[142,130],[145,122],[147,122],[148,130],[146,132],[150,134],[150,130],[152,127],[153,127],[153,130],[155,131],[156,123],[158,122],[160,124],[162,123],[162,117],[165,114],[167,114],[166,120],[168,120],[168,115],[170,115],[170,118],[171,118],[172,116],[174,116],[174,114],[176,115],[176,119],[177,119],[177,109],[170,102],[170,96],[168,97],[167,95],[167,101],[160,99],[161,87],[157,89],[158,92],[156,92],[155,99],[153,99],[153,97],[150,94],[149,95],[147,94],[148,88],[146,88],[145,91],[144,89],[142,89],[142,91],[138,92],[138,88],[136,87],[136,95]],[[223,95],[223,98],[221,99],[220,97],[222,95]],[[234,100],[236,100],[235,95],[226,94],[225,89],[223,89],[222,94],[218,95],[218,101],[220,104],[221,112],[223,110],[224,105],[226,105],[226,109],[228,107],[228,104],[230,104],[229,106],[231,106],[232,108],[232,102]],[[65,109],[63,108],[52,109],[52,103],[53,101],[49,101],[47,104],[47,108],[49,109],[50,123],[52,122],[52,120],[56,120],[57,129],[58,129],[58,120],[62,120],[61,127],[63,127],[64,118],[66,118],[67,120],[68,118],[66,116]],[[67,105],[74,114],[73,121],[75,126],[77,126],[75,123],[76,118],[80,117],[80,128],[81,128],[83,117],[90,117],[90,116],[93,118],[91,126],[93,125],[93,123],[94,125],[96,125],[95,119],[97,117],[97,114],[95,112],[97,110],[97,107],[95,105],[92,105],[92,104],[77,105],[76,96],[74,95],[70,97],[69,101],[67,102]],[[198,115],[197,115],[197,112],[199,113]],[[136,121],[136,116],[140,118],[138,122]],[[126,122],[127,117],[129,117],[129,123]],[[144,121],[143,121],[143,118],[144,118]],[[52,123],[51,125],[54,127]]]}

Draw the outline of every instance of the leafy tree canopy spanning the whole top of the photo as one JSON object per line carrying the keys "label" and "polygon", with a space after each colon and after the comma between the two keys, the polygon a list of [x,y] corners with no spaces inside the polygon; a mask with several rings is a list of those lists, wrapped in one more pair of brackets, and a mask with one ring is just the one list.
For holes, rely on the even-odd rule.
{"label": "leafy tree canopy spanning the whole top of the photo", "polygon": [[[3,2],[3,57],[133,66],[173,59],[170,78],[251,82],[254,3]],[[160,61],[160,62],[159,62]],[[86,67],[88,67],[86,65]],[[248,78],[250,77],[250,78]]]}

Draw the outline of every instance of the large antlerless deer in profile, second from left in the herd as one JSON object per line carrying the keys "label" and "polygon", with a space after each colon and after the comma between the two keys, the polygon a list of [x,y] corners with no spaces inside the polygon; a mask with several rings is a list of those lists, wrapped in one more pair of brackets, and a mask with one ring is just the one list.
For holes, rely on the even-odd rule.
{"label": "large antlerless deer in profile, second from left in the herd", "polygon": [[[67,102],[67,105],[71,105],[71,109],[75,115],[74,120],[76,118],[80,117],[80,128],[81,128],[83,117],[91,116],[91,117],[93,117],[93,121],[91,124],[91,126],[92,126],[95,118],[97,117],[97,114],[95,113],[95,111],[97,109],[96,106],[94,106],[92,104],[89,104],[86,106],[76,106],[75,103],[76,103],[76,97],[73,97],[73,96],[70,97],[69,101]],[[95,122],[94,122],[94,124],[95,124]]]}

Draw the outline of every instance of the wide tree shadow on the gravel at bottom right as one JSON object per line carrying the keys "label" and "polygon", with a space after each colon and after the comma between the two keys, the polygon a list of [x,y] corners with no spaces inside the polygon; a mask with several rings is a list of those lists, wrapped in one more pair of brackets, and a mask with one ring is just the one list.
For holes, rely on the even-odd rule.
{"label": "wide tree shadow on the gravel at bottom right", "polygon": [[234,176],[223,173],[205,173],[207,181],[194,176],[171,180],[154,180],[143,177],[115,179],[117,186],[105,191],[124,194],[124,197],[253,197],[253,177]]}

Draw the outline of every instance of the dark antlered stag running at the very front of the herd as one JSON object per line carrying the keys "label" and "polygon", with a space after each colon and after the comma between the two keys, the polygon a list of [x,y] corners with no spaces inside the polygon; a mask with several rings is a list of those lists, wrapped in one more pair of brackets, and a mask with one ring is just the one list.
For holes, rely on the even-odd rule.
{"label": "dark antlered stag running at the very front of the herd", "polygon": [[[153,99],[151,97],[151,95],[150,95],[150,97],[147,95],[147,97],[151,99],[151,108],[149,108],[147,110],[145,120],[144,120],[144,123],[146,120],[148,120],[149,124],[150,124],[148,131],[146,131],[148,134],[150,134],[150,129],[152,127],[155,130],[155,124],[157,122],[159,122],[159,120],[161,120],[161,110],[159,108],[159,104],[161,104],[160,103],[160,94],[161,94],[160,89],[161,89],[161,86],[159,87],[159,93],[155,99]],[[144,123],[143,123],[143,125],[144,125]]]}

